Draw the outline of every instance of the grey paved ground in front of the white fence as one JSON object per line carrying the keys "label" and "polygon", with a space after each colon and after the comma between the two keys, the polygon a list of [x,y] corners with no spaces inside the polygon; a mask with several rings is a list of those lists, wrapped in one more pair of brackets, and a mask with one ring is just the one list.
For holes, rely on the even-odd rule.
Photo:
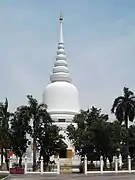
{"label": "grey paved ground in front of the white fence", "polygon": [[82,175],[82,174],[62,174],[59,176],[39,176],[39,175],[27,175],[27,176],[12,176],[11,180],[135,180],[135,174],[110,174],[110,175]]}

